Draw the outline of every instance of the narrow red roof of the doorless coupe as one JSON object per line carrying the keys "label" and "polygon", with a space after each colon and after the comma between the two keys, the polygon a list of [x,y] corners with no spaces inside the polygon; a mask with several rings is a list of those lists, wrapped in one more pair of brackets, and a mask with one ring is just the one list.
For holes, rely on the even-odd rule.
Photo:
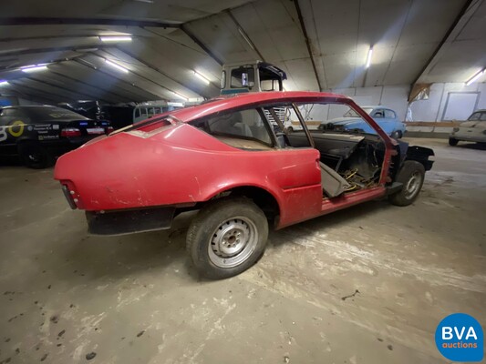
{"label": "narrow red roof of the doorless coupe", "polygon": [[274,103],[305,103],[305,102],[345,102],[352,99],[345,95],[330,94],[325,92],[312,91],[272,91],[272,92],[249,92],[244,94],[233,94],[228,96],[217,96],[216,98],[202,103],[198,106],[184,107],[170,112],[183,122],[190,122],[198,117],[208,116],[216,112],[222,112],[239,106],[253,106]]}

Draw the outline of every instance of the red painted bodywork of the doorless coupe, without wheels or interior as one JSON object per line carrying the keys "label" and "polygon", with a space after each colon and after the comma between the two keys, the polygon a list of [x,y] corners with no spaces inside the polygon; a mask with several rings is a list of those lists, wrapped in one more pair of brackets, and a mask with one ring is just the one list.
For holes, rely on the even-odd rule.
{"label": "red painted bodywork of the doorless coupe, without wheels or interior", "polygon": [[[338,103],[355,109],[376,130],[384,146],[379,179],[371,187],[325,197],[320,154],[314,147],[248,151],[225,144],[191,125],[194,120],[228,110],[273,103]],[[113,212],[130,215],[150,208],[169,208],[171,216],[165,223],[142,224],[129,230],[168,228],[172,216],[180,210],[201,208],[226,191],[252,187],[253,192],[261,190],[274,199],[274,227],[281,228],[387,195],[393,182],[390,163],[398,154],[398,142],[347,96],[251,93],[182,108],[172,111],[171,116],[154,116],[110,136],[100,136],[60,157],[55,178],[65,189],[71,206],[88,212],[88,222]],[[125,224],[127,218],[130,217],[126,215],[118,221]],[[108,233],[131,231],[122,228]]]}

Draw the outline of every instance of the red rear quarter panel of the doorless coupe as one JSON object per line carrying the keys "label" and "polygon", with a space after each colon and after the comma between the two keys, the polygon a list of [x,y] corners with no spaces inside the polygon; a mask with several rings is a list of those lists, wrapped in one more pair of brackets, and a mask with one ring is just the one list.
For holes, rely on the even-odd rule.
{"label": "red rear quarter panel of the doorless coupe", "polygon": [[90,211],[195,204],[233,187],[260,187],[276,199],[280,224],[289,225],[321,213],[318,158],[313,148],[236,149],[179,124],[81,147],[58,159],[55,177]]}

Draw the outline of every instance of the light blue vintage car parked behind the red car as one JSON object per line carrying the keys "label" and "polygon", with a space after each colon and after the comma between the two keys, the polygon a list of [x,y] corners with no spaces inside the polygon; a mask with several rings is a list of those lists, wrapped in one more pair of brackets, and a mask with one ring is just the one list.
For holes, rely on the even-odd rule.
{"label": "light blue vintage car parked behind the red car", "polygon": [[[385,130],[388,136],[399,139],[405,134],[406,126],[398,120],[397,113],[383,106],[363,106],[365,112],[373,117],[377,124]],[[329,120],[319,126],[319,130],[360,130],[364,133],[376,134],[356,111],[349,109],[343,117]]]}

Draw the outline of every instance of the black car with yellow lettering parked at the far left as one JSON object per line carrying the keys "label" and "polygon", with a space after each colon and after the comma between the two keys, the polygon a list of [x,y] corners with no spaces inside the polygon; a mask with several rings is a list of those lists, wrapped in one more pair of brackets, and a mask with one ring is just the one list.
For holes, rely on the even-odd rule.
{"label": "black car with yellow lettering parked at the far left", "polygon": [[63,153],[112,130],[109,121],[60,107],[6,106],[0,109],[0,157],[17,156],[27,167],[45,168]]}

